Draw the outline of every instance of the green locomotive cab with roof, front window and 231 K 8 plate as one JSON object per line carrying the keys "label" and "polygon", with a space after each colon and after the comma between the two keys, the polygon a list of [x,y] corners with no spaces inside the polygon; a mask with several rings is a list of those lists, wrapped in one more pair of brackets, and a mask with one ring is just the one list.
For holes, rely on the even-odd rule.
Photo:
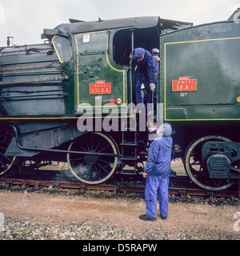
{"label": "green locomotive cab with roof, front window and 231 K 8 plate", "polygon": [[124,107],[135,103],[134,48],[159,48],[160,34],[192,25],[159,17],[71,22],[42,34],[53,42],[69,86],[74,82],[74,101],[73,95],[66,98],[66,108],[72,114],[103,115],[109,109],[128,111]]}

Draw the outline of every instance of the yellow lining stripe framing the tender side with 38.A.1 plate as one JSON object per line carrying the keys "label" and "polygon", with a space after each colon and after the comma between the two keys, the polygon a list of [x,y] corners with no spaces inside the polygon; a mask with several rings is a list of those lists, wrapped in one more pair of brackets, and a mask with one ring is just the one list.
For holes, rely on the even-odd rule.
{"label": "yellow lining stripe framing the tender side with 38.A.1 plate", "polygon": [[219,120],[226,120],[226,121],[234,121],[240,120],[240,118],[200,118],[200,119],[167,119],[166,118],[166,45],[174,45],[174,44],[181,44],[181,43],[188,43],[188,42],[214,42],[214,41],[221,41],[221,40],[234,40],[240,39],[237,38],[215,38],[215,39],[205,39],[205,40],[194,40],[194,41],[182,41],[182,42],[166,42],[164,44],[164,120],[165,121],[219,121]]}

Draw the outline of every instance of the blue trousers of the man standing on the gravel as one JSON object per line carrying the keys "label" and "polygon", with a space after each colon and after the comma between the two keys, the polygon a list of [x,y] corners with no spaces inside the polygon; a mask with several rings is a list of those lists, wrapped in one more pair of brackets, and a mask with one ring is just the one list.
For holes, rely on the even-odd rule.
{"label": "blue trousers of the man standing on the gravel", "polygon": [[159,210],[162,217],[166,217],[168,213],[168,185],[169,176],[162,178],[161,176],[150,176],[146,178],[145,200],[146,200],[146,216],[148,218],[156,218],[157,211],[157,194],[159,199]]}

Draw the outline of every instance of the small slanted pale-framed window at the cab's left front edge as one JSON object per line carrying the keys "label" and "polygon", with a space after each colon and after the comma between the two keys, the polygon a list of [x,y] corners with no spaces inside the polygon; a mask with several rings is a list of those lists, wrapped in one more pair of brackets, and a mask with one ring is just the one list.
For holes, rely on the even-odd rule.
{"label": "small slanted pale-framed window at the cab's left front edge", "polygon": [[70,62],[72,58],[72,50],[70,40],[68,38],[62,38],[55,36],[53,38],[54,49],[58,55],[59,62],[66,63]]}

